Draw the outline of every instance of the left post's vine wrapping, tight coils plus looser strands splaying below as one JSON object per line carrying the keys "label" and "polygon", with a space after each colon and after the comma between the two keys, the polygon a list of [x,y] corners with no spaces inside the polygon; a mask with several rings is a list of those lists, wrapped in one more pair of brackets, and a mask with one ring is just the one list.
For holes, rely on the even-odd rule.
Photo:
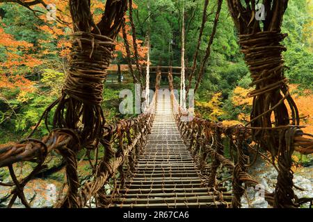
{"label": "left post's vine wrapping, tight coils plus looser strands splaying below", "polygon": [[113,40],[104,35],[72,34],[70,70],[54,114],[54,127],[77,129],[81,121],[82,145],[91,148],[97,146],[105,122],[100,104],[113,49]]}

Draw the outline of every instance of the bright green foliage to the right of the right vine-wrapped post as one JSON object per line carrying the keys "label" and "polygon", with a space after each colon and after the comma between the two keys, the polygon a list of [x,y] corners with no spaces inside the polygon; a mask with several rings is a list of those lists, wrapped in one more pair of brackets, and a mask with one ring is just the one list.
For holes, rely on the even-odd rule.
{"label": "bright green foliage to the right of the right vine-wrapped post", "polygon": [[[287,46],[284,59],[289,67],[286,76],[291,83],[298,83],[307,89],[313,89],[312,22],[309,2],[289,1],[282,23],[282,32],[288,33],[284,40]],[[311,29],[307,29],[307,26],[311,26]]]}

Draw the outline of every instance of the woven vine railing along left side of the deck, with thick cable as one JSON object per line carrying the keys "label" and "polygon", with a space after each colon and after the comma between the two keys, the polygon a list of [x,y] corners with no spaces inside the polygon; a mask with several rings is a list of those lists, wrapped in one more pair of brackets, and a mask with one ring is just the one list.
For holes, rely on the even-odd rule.
{"label": "woven vine railing along left side of the deck, with thick cable", "polygon": [[[0,183],[0,186],[12,187],[10,202],[7,207],[12,207],[19,198],[25,207],[31,207],[24,195],[24,187],[39,173],[47,169],[47,158],[52,151],[60,154],[65,162],[65,174],[67,191],[61,195],[55,207],[86,207],[88,200],[94,197],[97,205],[103,202],[104,185],[110,178],[120,172],[120,177],[125,177],[122,166],[130,173],[136,163],[136,157],[143,150],[147,135],[150,133],[154,120],[157,103],[157,93],[154,94],[150,107],[130,119],[122,119],[118,123],[105,125],[102,129],[102,137],[99,142],[102,146],[96,146],[93,150],[95,160],[90,158],[90,149],[81,146],[81,138],[78,130],[54,129],[42,139],[24,139],[17,143],[0,145],[0,168],[8,167],[13,182]],[[103,156],[99,156],[103,149]],[[77,169],[78,152],[85,151],[93,172],[88,181],[83,185],[79,181]],[[37,166],[28,176],[17,179],[13,164],[19,162],[35,162]]]}

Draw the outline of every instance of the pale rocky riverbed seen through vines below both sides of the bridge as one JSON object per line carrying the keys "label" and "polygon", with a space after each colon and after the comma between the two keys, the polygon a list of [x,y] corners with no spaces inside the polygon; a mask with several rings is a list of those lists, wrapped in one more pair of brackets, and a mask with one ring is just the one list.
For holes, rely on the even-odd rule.
{"label": "pale rocky riverbed seen through vines below both sides of the bridge", "polygon": [[[56,164],[56,163],[54,163]],[[57,164],[60,164],[58,162]],[[23,176],[28,175],[31,172],[31,166],[25,165],[23,171],[19,171],[19,167],[16,167],[15,171],[17,175],[22,173]],[[79,164],[81,180],[88,178],[88,162],[81,162]],[[250,175],[256,178],[260,186],[264,187],[267,191],[273,191],[275,189],[276,178],[278,176],[277,171],[271,165],[265,164],[264,161],[258,160],[256,164],[249,170]],[[45,178],[35,178],[31,180],[25,187],[25,196],[29,201],[31,207],[53,207],[56,203],[58,191],[63,187],[65,171],[62,169],[57,173],[51,173]],[[218,169],[218,180],[225,180],[230,178],[231,172],[225,168]],[[5,169],[0,169],[0,182],[11,182],[8,172]],[[300,167],[296,169],[294,173],[294,185],[304,189],[300,191],[294,188],[295,194],[298,198],[313,197],[313,165],[309,164],[307,167]],[[225,180],[223,186],[227,190],[232,189],[231,180]],[[109,186],[106,187],[108,190]],[[0,186],[0,207],[6,207],[10,201],[10,187]],[[264,198],[259,195],[255,189],[247,189],[247,195],[241,198],[241,204],[243,208],[268,208],[270,207]],[[94,200],[91,200],[91,207],[95,207]],[[19,198],[15,200],[13,207],[24,207]],[[308,204],[303,207],[309,207]]]}

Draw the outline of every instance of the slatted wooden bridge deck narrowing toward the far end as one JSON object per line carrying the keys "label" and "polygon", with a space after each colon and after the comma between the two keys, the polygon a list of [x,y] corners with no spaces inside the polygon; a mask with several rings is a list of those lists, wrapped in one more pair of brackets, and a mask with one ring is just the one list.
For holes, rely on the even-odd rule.
{"label": "slatted wooden bridge deck narrowing toward the far end", "polygon": [[[147,147],[110,207],[225,207],[217,193],[202,186],[197,166],[175,124],[170,99],[159,97],[157,104]],[[219,190],[230,204],[231,193],[223,187]]]}

